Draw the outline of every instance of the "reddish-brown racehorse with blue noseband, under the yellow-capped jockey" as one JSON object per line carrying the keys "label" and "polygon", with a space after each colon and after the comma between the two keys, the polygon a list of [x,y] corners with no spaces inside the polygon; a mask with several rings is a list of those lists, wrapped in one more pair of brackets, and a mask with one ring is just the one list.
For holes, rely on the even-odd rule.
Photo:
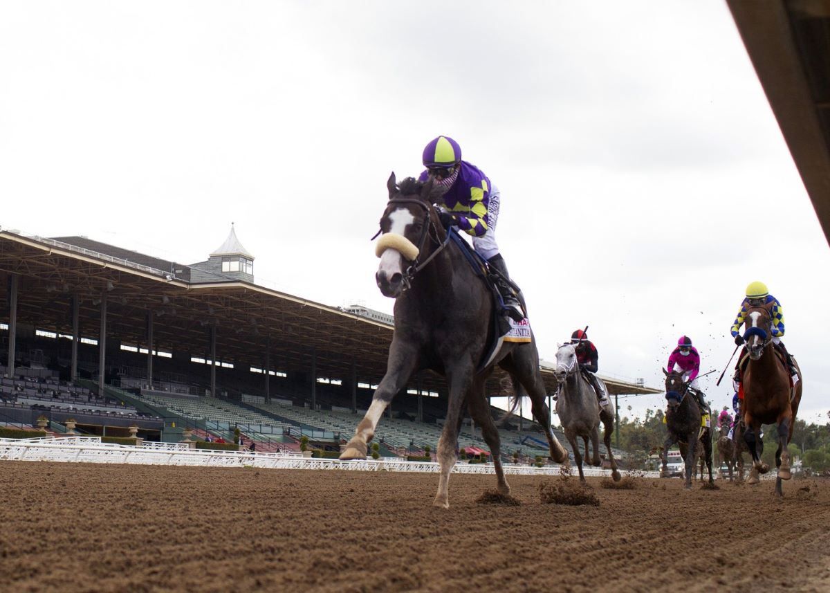
{"label": "reddish-brown racehorse with blue noseband, under the yellow-capped jockey", "polygon": [[750,306],[746,311],[744,339],[749,361],[743,372],[744,440],[749,453],[752,453],[752,471],[749,483],[759,483],[758,474],[767,473],[769,465],[761,461],[756,434],[761,424],[776,424],[779,434],[779,448],[775,451],[775,465],[778,477],[775,480],[775,493],[784,495],[781,480],[791,478],[787,444],[793,438],[793,425],[801,402],[803,381],[798,370],[798,382],[791,385],[787,361],[775,349],[772,336],[772,304]]}

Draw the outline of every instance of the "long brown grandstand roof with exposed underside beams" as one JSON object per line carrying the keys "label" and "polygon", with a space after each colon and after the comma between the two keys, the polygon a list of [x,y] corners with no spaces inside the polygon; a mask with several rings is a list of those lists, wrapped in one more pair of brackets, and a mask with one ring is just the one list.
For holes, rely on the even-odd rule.
{"label": "long brown grandstand roof with exposed underside beams", "polygon": [[[19,323],[71,334],[71,301],[78,295],[81,336],[96,337],[98,301],[106,296],[108,335],[122,343],[145,346],[147,316],[153,315],[157,350],[208,355],[208,330],[215,324],[218,360],[262,365],[270,343],[272,370],[308,370],[315,352],[320,376],[347,379],[354,363],[359,380],[383,377],[392,326],[251,282],[217,277],[191,284],[185,268],[85,238],[0,231],[0,274],[20,278]],[[543,369],[543,376],[553,391],[552,372]],[[491,395],[505,395],[504,378],[499,370],[488,380]],[[444,385],[432,373],[422,380],[424,389]],[[623,381],[607,383],[612,394],[658,393]]]}

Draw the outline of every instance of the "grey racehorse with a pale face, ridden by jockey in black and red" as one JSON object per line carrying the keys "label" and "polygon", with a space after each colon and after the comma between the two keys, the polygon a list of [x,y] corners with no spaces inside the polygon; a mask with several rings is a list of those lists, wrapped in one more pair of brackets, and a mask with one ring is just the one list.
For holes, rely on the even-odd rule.
{"label": "grey racehorse with a pale face, ridden by jockey in black and red", "polygon": [[[579,370],[574,346],[563,344],[556,351],[556,380],[559,381],[559,398],[556,400],[556,414],[562,422],[565,437],[574,449],[574,461],[579,468],[579,479],[585,481],[582,471],[583,456],[579,452],[579,437],[585,444],[585,458],[588,458],[588,439],[593,444],[591,464],[599,467],[599,423],[603,423],[603,443],[611,462],[612,477],[619,482],[617,462],[611,452],[611,434],[614,431],[614,409],[611,402],[600,409],[597,395],[588,380]],[[597,378],[597,380],[600,380]]]}

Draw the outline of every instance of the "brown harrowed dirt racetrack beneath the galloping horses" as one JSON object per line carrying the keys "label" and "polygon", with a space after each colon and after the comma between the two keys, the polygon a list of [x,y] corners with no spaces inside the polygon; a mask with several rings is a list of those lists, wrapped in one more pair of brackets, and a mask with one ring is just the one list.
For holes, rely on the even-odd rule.
{"label": "brown harrowed dirt racetrack beneath the galloping horses", "polygon": [[830,591],[828,482],[558,479],[0,462],[0,591]]}

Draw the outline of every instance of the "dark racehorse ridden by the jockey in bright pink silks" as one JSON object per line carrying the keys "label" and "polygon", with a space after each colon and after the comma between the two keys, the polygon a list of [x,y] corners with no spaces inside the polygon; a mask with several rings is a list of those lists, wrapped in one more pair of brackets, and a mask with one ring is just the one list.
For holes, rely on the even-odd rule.
{"label": "dark racehorse ridden by the jockey in bright pink silks", "polygon": [[[663,467],[661,476],[668,475],[666,463],[668,452],[675,443],[680,444],[683,460],[686,462],[686,489],[691,488],[691,477],[695,473],[697,451],[703,447],[706,466],[709,468],[709,483],[712,477],[712,439],[710,429],[705,428],[701,434],[701,408],[694,397],[689,395],[689,384],[683,380],[683,374],[663,369],[666,375],[666,443],[663,444]],[[702,472],[701,472],[702,473]]]}

